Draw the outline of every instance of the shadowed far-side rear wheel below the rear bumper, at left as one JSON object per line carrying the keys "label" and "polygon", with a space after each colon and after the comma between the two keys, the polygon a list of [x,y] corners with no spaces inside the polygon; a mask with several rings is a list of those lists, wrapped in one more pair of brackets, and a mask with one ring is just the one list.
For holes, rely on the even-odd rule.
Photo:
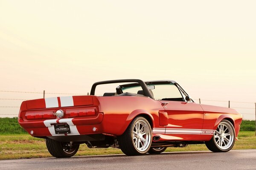
{"label": "shadowed far-side rear wheel below the rear bumper, at left", "polygon": [[69,158],[74,156],[79,149],[79,144],[70,142],[58,142],[49,138],[45,142],[49,153],[56,158]]}

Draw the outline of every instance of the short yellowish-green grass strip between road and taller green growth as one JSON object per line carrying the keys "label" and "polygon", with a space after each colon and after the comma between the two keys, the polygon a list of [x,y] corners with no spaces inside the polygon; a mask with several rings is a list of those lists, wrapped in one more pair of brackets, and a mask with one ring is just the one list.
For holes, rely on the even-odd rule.
{"label": "short yellowish-green grass strip between road and taller green growth", "polygon": [[[241,131],[239,140],[233,149],[256,149],[256,136],[253,131]],[[191,144],[187,147],[168,147],[166,152],[208,150],[204,144]],[[81,144],[76,156],[121,154],[116,148],[93,148]],[[52,157],[46,148],[44,139],[29,134],[0,135],[0,160]]]}

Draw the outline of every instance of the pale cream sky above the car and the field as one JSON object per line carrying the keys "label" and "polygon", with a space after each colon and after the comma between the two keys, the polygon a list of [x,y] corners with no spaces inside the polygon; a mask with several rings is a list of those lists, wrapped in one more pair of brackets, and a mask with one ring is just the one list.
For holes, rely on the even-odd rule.
{"label": "pale cream sky above the car and the field", "polygon": [[1,91],[87,94],[97,81],[171,79],[193,99],[253,108],[255,6],[255,0],[0,0],[0,98],[42,97]]}

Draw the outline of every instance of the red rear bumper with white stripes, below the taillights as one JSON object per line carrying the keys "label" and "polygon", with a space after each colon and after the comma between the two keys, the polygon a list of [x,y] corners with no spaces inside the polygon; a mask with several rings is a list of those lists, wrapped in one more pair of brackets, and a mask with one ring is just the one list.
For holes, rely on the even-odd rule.
{"label": "red rear bumper with white stripes, below the taillights", "polygon": [[[29,120],[23,121],[19,119],[20,126],[23,127],[30,135],[39,136],[73,136],[102,133],[101,122],[103,113],[99,113],[94,117],[78,117],[68,119],[48,119],[48,120]],[[70,126],[69,134],[56,134],[54,124],[67,123]],[[93,131],[96,127],[96,131]],[[33,132],[33,134],[31,133]]]}

